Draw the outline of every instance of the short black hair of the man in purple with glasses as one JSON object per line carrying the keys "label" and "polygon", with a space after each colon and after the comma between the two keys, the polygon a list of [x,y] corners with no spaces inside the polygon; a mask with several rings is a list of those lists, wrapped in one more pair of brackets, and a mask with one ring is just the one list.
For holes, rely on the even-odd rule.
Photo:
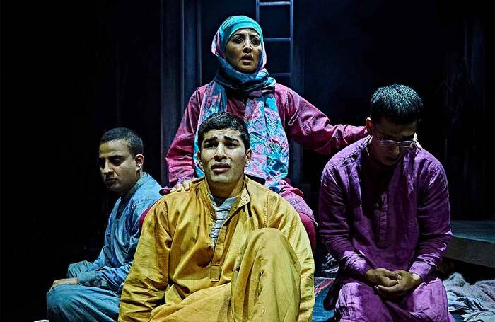
{"label": "short black hair of the man in purple with glasses", "polygon": [[378,123],[385,117],[392,123],[404,125],[419,120],[423,101],[412,88],[392,84],[378,88],[370,105],[373,122]]}

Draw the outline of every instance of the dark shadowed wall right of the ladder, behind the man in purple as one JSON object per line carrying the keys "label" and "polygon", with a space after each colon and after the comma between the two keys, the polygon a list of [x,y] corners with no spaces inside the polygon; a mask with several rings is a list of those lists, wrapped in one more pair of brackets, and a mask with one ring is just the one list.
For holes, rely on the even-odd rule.
{"label": "dark shadowed wall right of the ladder, behind the man in purple", "polygon": [[[332,122],[363,125],[379,86],[406,84],[424,99],[419,140],[445,167],[453,219],[495,219],[493,9],[470,1],[320,1],[301,14],[304,96]],[[303,156],[315,204],[327,157]]]}

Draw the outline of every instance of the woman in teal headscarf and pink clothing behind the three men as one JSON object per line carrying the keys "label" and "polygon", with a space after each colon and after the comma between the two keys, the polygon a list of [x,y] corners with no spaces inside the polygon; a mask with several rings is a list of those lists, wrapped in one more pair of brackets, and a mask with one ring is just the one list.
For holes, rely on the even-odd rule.
{"label": "woman in teal headscarf and pink clothing behind the three men", "polygon": [[[248,125],[252,159],[245,173],[279,193],[297,210],[313,249],[315,217],[301,190],[287,180],[291,137],[306,149],[334,154],[366,136],[364,127],[330,125],[328,117],[290,88],[276,83],[265,65],[267,53],[260,25],[246,16],[223,21],[211,43],[219,69],[209,84],[197,88],[167,154],[172,191],[203,176],[197,166],[197,127],[206,117],[228,111]],[[167,190],[163,190],[166,193]]]}

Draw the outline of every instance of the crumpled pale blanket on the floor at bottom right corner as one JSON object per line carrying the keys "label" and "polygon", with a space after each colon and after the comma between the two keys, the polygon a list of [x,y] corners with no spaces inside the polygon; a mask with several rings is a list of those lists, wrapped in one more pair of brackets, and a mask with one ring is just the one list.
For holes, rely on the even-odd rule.
{"label": "crumpled pale blanket on the floor at bottom right corner", "polygon": [[495,321],[495,280],[471,285],[455,272],[443,284],[447,290],[448,311],[462,313],[466,322]]}

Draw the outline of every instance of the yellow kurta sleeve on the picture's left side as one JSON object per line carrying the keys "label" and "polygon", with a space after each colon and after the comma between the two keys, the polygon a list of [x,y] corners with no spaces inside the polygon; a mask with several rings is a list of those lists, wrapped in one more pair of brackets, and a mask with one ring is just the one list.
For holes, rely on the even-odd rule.
{"label": "yellow kurta sleeve on the picture's left side", "polygon": [[166,205],[160,200],[144,220],[134,265],[122,289],[119,321],[148,321],[151,310],[163,301],[171,242]]}

